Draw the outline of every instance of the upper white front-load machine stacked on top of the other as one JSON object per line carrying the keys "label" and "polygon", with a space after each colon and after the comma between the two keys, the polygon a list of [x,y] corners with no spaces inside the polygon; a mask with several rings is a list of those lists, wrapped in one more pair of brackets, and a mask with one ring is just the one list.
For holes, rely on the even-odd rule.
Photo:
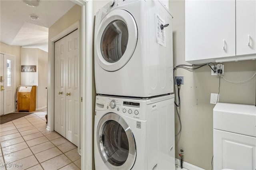
{"label": "upper white front-load machine stacked on top of the other", "polygon": [[158,0],[114,0],[100,9],[94,36],[96,93],[173,93],[171,20]]}

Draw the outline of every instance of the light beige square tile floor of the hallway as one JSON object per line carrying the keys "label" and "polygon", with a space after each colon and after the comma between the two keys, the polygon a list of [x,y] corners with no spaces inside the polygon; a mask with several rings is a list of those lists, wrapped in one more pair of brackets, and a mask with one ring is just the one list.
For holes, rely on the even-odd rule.
{"label": "light beige square tile floor of the hallway", "polygon": [[77,147],[46,130],[45,115],[43,109],[0,125],[0,170],[80,170]]}

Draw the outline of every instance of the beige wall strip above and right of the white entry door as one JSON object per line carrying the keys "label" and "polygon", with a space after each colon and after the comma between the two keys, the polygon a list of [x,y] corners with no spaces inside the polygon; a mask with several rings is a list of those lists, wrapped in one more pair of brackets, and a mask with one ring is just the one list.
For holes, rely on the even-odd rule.
{"label": "beige wall strip above and right of the white entry door", "polygon": [[16,56],[16,87],[20,85],[20,46],[0,44],[0,52],[8,53]]}

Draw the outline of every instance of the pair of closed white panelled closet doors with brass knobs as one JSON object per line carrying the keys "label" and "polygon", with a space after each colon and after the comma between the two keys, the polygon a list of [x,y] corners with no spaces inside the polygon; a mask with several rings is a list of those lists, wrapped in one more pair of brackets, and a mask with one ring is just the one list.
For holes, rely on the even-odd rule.
{"label": "pair of closed white panelled closet doors with brass knobs", "polygon": [[80,64],[78,30],[54,43],[54,130],[78,145]]}

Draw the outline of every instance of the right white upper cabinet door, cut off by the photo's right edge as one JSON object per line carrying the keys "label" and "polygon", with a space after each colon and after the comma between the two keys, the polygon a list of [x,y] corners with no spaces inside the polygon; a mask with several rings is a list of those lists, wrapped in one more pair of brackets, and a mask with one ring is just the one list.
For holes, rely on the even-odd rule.
{"label": "right white upper cabinet door, cut off by the photo's right edge", "polygon": [[256,53],[256,0],[236,0],[236,55]]}

